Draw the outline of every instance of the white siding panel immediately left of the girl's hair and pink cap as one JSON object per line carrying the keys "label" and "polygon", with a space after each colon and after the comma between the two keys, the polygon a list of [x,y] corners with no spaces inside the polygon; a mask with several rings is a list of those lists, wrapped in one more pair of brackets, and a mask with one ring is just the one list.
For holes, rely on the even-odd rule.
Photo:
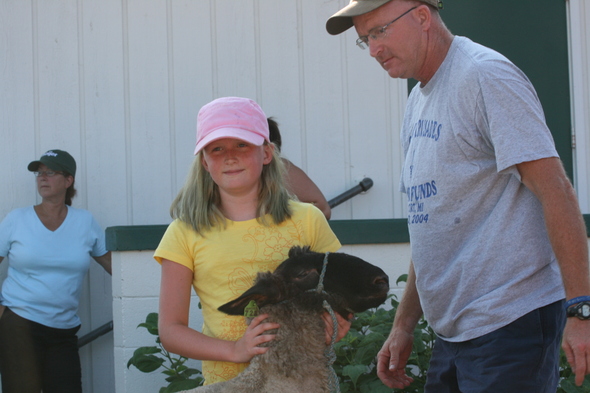
{"label": "white siding panel immediately left of the girl's hair and pink cap", "polygon": [[166,1],[130,0],[127,7],[132,224],[166,223],[171,188]]}

